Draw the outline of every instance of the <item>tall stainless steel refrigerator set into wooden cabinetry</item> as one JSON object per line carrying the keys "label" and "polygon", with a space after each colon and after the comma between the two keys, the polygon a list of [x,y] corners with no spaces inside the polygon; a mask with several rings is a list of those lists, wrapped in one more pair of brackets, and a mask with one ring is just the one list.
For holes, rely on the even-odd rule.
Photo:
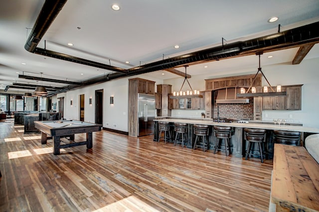
{"label": "tall stainless steel refrigerator set into wooden cabinetry", "polygon": [[156,109],[155,109],[155,95],[139,93],[139,123],[138,136],[146,136],[154,133],[154,123]]}

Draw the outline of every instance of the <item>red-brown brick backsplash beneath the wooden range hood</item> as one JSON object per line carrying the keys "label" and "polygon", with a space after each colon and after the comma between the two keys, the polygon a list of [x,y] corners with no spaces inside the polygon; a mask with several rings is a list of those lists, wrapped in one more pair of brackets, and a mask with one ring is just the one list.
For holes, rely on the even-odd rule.
{"label": "red-brown brick backsplash beneath the wooden range hood", "polygon": [[216,95],[214,95],[213,118],[217,118],[218,105],[219,118],[254,119],[254,98],[249,98],[249,104],[216,104],[215,100]]}

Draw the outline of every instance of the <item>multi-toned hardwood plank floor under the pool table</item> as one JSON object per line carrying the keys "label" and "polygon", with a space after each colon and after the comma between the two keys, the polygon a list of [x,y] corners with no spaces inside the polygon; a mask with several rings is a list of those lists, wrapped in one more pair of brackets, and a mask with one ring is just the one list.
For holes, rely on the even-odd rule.
{"label": "multi-toned hardwood plank floor under the pool table", "polygon": [[[84,141],[85,134],[76,135]],[[0,211],[268,211],[272,160],[226,157],[153,136],[93,133],[52,153],[52,140],[0,121]]]}

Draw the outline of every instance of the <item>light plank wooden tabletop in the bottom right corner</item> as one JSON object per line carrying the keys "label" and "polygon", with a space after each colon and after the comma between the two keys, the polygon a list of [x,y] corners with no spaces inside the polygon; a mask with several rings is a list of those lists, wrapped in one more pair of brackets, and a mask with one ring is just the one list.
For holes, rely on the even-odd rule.
{"label": "light plank wooden tabletop in the bottom right corner", "polygon": [[319,164],[305,147],[275,143],[271,201],[276,212],[319,211]]}

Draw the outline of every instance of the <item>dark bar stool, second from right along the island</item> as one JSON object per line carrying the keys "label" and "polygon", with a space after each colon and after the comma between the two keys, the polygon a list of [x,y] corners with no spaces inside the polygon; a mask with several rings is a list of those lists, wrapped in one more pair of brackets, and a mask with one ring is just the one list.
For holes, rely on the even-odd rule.
{"label": "dark bar stool, second from right along the island", "polygon": [[245,131],[245,139],[246,139],[246,141],[248,141],[248,147],[247,147],[247,151],[246,151],[245,160],[247,160],[248,155],[252,154],[252,153],[249,153],[252,143],[257,142],[258,146],[259,146],[259,151],[260,151],[260,159],[261,159],[261,162],[264,163],[263,149],[262,149],[261,143],[265,142],[266,130],[245,128],[244,131]]}

